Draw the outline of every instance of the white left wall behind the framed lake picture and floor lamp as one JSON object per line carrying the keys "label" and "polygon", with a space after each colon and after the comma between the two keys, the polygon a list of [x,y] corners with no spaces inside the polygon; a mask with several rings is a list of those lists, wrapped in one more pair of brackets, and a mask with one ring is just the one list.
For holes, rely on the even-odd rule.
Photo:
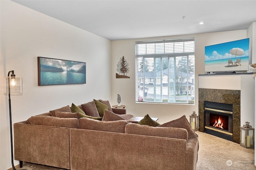
{"label": "white left wall behind the framed lake picture and floor lamp", "polygon": [[[1,0],[0,7],[0,169],[6,170],[12,165],[3,77],[14,70],[23,78],[22,96],[11,97],[13,123],[72,102],[111,102],[111,41],[12,1]],[[86,84],[38,86],[38,56],[86,62]]]}

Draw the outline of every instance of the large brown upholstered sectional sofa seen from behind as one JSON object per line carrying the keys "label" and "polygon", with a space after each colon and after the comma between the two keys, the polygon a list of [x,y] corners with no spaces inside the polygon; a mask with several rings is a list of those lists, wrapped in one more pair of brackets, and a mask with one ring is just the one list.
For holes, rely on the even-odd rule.
{"label": "large brown upholstered sectional sofa seen from behind", "polygon": [[[105,119],[109,119],[107,114],[114,113],[106,113]],[[178,127],[137,125],[121,118],[58,118],[48,112],[14,123],[14,159],[20,166],[25,161],[71,170],[195,170],[198,137],[193,133]]]}

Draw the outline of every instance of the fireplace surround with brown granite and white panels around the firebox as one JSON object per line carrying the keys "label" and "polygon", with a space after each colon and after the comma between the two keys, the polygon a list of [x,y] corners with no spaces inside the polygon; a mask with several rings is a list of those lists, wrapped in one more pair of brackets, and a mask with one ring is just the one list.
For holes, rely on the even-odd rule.
{"label": "fireplace surround with brown granite and white panels around the firebox", "polygon": [[254,93],[254,76],[252,74],[199,75],[199,131],[204,132],[204,101],[233,104],[233,140],[239,143],[239,127],[246,121],[249,121],[250,125],[254,127]]}

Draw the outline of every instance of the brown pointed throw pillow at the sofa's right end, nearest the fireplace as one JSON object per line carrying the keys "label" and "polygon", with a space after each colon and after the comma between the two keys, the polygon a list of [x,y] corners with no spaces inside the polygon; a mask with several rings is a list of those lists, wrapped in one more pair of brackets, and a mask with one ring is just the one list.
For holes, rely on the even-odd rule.
{"label": "brown pointed throw pillow at the sofa's right end, nearest the fireplace", "polygon": [[195,131],[191,128],[190,124],[188,123],[188,119],[185,115],[182,117],[175,119],[173,121],[169,121],[167,123],[164,123],[162,125],[159,125],[158,127],[179,127],[184,128],[188,131],[188,139],[198,137],[198,135],[195,133]]}

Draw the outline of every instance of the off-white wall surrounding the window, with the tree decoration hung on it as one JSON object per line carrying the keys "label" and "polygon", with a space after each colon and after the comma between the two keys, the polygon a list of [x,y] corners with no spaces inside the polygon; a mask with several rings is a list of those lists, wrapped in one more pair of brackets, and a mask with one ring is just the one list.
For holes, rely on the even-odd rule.
{"label": "off-white wall surrounding the window, with the tree decoration hung on it", "polygon": [[[135,103],[135,42],[190,37],[195,38],[195,105]],[[189,119],[192,111],[198,114],[198,74],[204,74],[204,47],[245,38],[247,30],[112,41],[112,101],[116,102],[117,94],[120,94],[121,104],[126,105],[128,113],[141,117],[149,114],[158,117],[159,123],[177,119],[183,114]],[[129,64],[130,78],[115,76],[116,65],[122,56]]]}

